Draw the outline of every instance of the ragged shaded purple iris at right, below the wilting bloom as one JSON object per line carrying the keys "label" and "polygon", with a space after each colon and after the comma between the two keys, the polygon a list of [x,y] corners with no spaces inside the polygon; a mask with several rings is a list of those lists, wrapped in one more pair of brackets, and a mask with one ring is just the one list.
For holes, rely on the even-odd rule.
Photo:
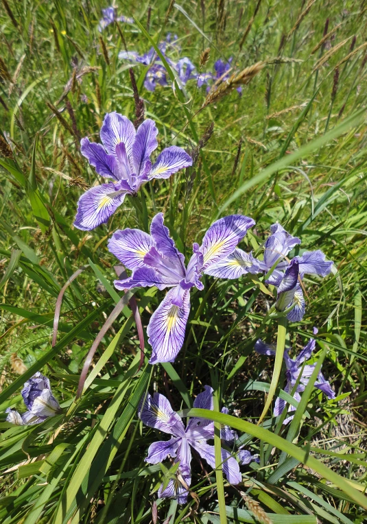
{"label": "ragged shaded purple iris at right, below the wilting bloom", "polygon": [[[317,333],[317,329],[313,331],[313,333]],[[311,357],[313,350],[316,347],[316,340],[313,338],[310,338],[307,346],[303,348],[303,350],[300,352],[298,357],[295,359],[291,359],[288,355],[288,350],[285,350],[284,353],[284,361],[285,361],[285,367],[287,368],[285,372],[285,377],[287,379],[287,384],[285,385],[284,391],[286,393],[291,394],[292,390],[294,389],[294,386],[296,385],[296,381],[299,379],[298,386],[296,388],[296,391],[294,392],[293,398],[300,402],[300,393],[305,391],[305,388],[307,384],[309,383],[309,379],[311,378],[311,374],[313,372],[313,369],[315,368],[316,364],[303,364],[305,361],[309,360]],[[275,355],[276,351],[272,346],[269,346],[268,344],[265,344],[262,340],[258,340],[254,346],[257,353],[260,353],[261,355]],[[333,399],[335,398],[335,393],[331,389],[331,386],[329,384],[329,381],[327,381],[320,371],[318,374],[318,378],[315,383],[315,388],[318,388],[321,390],[327,398]],[[283,413],[285,409],[285,405],[287,404],[286,401],[283,401],[282,398],[278,397],[275,401],[274,406],[274,416],[279,416]],[[292,413],[296,411],[296,407],[289,405],[288,407],[288,413]],[[283,424],[287,424],[294,415],[290,415],[287,418],[285,418]]]}

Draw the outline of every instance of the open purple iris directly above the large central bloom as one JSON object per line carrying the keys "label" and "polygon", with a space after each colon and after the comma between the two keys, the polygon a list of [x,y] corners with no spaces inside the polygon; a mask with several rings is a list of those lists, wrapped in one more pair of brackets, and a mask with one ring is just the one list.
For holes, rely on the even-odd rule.
{"label": "open purple iris directly above the large central bloom", "polygon": [[100,176],[113,181],[92,187],[80,197],[74,226],[86,231],[107,222],[126,195],[137,195],[145,182],[169,178],[192,165],[191,156],[176,145],[166,147],[152,165],[150,155],[158,146],[158,130],[151,119],[135,131],[128,118],[110,112],[104,117],[100,134],[103,145],[85,138],[80,151]]}

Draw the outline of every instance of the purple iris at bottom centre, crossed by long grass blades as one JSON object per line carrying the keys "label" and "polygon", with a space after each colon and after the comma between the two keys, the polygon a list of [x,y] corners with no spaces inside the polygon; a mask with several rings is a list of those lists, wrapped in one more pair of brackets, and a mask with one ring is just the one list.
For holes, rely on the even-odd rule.
{"label": "purple iris at bottom centre, crossed by long grass blades", "polygon": [[[213,389],[206,385],[204,392],[198,394],[193,407],[213,410]],[[185,428],[180,416],[174,412],[165,396],[147,394],[144,404],[139,409],[139,418],[144,424],[171,435],[169,440],[160,440],[150,445],[145,462],[158,464],[167,457],[173,457],[178,463],[178,473],[187,487],[191,484],[191,448],[195,449],[212,468],[215,468],[214,446],[207,440],[214,438],[214,422],[203,418],[192,417]],[[222,469],[230,484],[241,482],[241,473],[237,460],[222,448]],[[163,490],[158,490],[158,497],[175,497],[179,504],[185,504],[189,492],[180,481],[171,479]]]}

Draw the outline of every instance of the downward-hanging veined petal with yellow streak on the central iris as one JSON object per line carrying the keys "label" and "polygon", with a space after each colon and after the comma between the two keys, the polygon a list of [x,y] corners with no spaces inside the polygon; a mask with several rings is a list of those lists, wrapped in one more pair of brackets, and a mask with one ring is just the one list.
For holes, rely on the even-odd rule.
{"label": "downward-hanging veined petal with yellow streak on the central iris", "polygon": [[168,291],[147,326],[148,342],[153,349],[150,364],[174,362],[184,343],[190,312],[190,291],[185,291],[182,307],[172,304],[174,294],[174,289]]}

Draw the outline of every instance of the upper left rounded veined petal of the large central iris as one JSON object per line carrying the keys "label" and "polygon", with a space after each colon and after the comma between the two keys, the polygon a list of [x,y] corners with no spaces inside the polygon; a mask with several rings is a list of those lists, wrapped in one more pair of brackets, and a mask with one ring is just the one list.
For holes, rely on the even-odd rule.
{"label": "upper left rounded veined petal of the large central iris", "polygon": [[108,241],[108,250],[129,270],[144,265],[144,257],[154,246],[150,235],[140,229],[118,229]]}

